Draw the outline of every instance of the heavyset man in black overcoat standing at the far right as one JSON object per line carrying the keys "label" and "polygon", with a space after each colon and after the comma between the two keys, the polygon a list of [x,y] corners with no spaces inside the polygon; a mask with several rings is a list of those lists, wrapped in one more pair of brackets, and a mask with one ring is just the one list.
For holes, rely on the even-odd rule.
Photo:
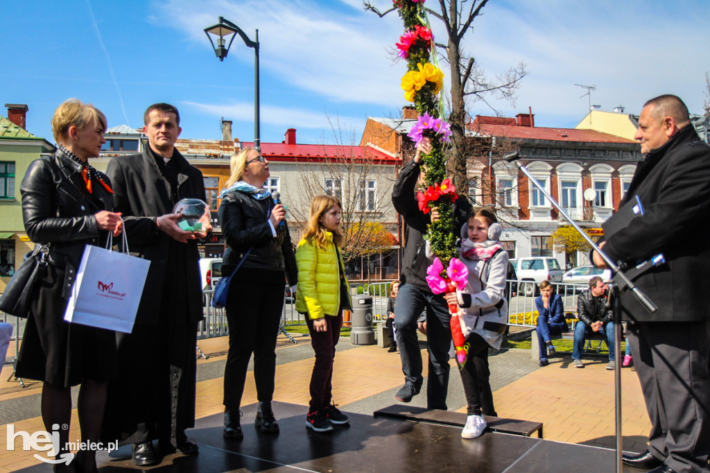
{"label": "heavyset man in black overcoat standing at the far right", "polygon": [[[603,251],[623,266],[657,254],[666,263],[635,281],[657,311],[650,313],[631,293],[621,293],[652,425],[648,450],[624,455],[623,462],[654,473],[708,472],[710,147],[674,95],[646,102],[635,139],[645,158],[621,205],[638,197],[644,213],[608,236]],[[598,254],[594,262],[603,266]]]}

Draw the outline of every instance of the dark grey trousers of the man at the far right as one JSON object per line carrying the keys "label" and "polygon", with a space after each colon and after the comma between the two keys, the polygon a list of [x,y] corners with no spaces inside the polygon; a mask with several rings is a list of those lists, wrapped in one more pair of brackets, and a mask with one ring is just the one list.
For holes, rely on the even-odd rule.
{"label": "dark grey trousers of the man at the far right", "polygon": [[707,472],[710,322],[629,322],[626,339],[651,420],[648,451],[674,472]]}

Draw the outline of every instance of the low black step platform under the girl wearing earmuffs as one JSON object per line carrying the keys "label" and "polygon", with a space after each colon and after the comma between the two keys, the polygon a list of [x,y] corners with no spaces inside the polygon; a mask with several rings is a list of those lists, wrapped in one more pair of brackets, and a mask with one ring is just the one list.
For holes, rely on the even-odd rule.
{"label": "low black step platform under the girl wearing earmuffs", "polygon": [[[427,409],[415,406],[403,406],[393,404],[373,413],[374,417],[385,417],[399,420],[414,420],[415,422],[425,422],[439,425],[453,425],[463,428],[466,425],[466,413],[439,411],[438,409]],[[506,419],[501,417],[491,417],[484,415],[486,419],[486,430],[513,435],[523,435],[532,437],[537,432],[537,437],[542,438],[542,423],[529,420]]]}

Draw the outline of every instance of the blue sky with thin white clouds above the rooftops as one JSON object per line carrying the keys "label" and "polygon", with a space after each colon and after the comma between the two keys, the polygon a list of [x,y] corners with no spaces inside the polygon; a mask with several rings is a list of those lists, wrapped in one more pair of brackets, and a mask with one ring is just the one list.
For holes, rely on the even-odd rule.
{"label": "blue sky with thin white clouds above the rooftops", "polygon": [[[0,105],[28,104],[28,130],[50,141],[53,111],[69,97],[99,107],[109,126],[142,126],[149,104],[170,102],[183,138],[221,138],[224,116],[251,141],[253,50],[237,38],[219,62],[203,32],[218,16],[252,39],[259,30],[263,142],[296,128],[299,143],[334,143],[339,123],[344,141],[359,143],[368,116],[397,116],[407,104],[406,65],[388,52],[400,18],[378,18],[360,0],[42,0],[1,7]],[[574,126],[588,109],[574,84],[595,85],[591,103],[604,110],[638,114],[646,99],[675,93],[702,112],[704,0],[491,0],[474,26],[465,48],[490,75],[527,65],[514,105],[488,101],[506,116],[532,107],[537,126]],[[470,109],[493,114],[483,102]]]}

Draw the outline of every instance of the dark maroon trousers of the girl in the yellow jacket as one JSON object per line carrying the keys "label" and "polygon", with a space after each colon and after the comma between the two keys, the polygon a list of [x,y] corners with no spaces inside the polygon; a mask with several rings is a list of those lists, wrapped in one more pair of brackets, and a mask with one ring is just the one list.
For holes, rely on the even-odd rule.
{"label": "dark maroon trousers of the girl in the yellow jacket", "polygon": [[310,411],[320,411],[325,406],[330,406],[333,391],[333,361],[335,359],[335,346],[340,339],[340,327],[343,325],[343,316],[325,316],[327,330],[316,332],[313,330],[313,321],[306,316],[306,325],[311,336],[311,346],[315,352],[315,363],[310,382]]}

